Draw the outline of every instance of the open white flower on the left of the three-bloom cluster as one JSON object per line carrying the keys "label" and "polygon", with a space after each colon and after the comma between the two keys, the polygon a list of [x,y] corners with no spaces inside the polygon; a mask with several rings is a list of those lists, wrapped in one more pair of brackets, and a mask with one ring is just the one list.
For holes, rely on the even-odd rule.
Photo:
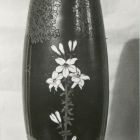
{"label": "open white flower on the left of the three-bloom cluster", "polygon": [[52,78],[46,80],[46,82],[49,84],[50,91],[53,87],[55,88],[56,91],[58,87],[61,88],[63,91],[65,90],[61,83],[62,78],[63,78],[62,74],[58,74],[56,71],[53,72]]}

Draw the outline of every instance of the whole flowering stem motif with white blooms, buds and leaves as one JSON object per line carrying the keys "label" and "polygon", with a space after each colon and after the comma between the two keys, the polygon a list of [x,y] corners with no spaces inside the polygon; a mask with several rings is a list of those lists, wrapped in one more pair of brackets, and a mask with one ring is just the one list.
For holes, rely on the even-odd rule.
{"label": "whole flowering stem motif with white blooms, buds and leaves", "polygon": [[[70,126],[72,126],[72,121],[74,120],[73,116],[73,107],[72,103],[72,91],[78,86],[81,90],[85,84],[85,80],[90,80],[90,77],[82,74],[81,70],[76,66],[78,58],[72,58],[73,52],[76,50],[77,41],[69,41],[69,51],[70,57],[66,59],[65,50],[62,43],[59,43],[58,48],[54,45],[51,46],[53,52],[55,52],[59,57],[55,59],[55,62],[58,66],[52,72],[52,77],[46,80],[46,83],[49,84],[50,92],[52,88],[57,92],[58,88],[62,90],[60,97],[62,98],[62,110],[55,111],[55,113],[50,114],[50,119],[58,125],[60,129],[59,134],[63,137],[63,140],[68,140],[72,135]],[[64,56],[64,58],[63,58]],[[76,136],[71,137],[71,140],[77,140]]]}

